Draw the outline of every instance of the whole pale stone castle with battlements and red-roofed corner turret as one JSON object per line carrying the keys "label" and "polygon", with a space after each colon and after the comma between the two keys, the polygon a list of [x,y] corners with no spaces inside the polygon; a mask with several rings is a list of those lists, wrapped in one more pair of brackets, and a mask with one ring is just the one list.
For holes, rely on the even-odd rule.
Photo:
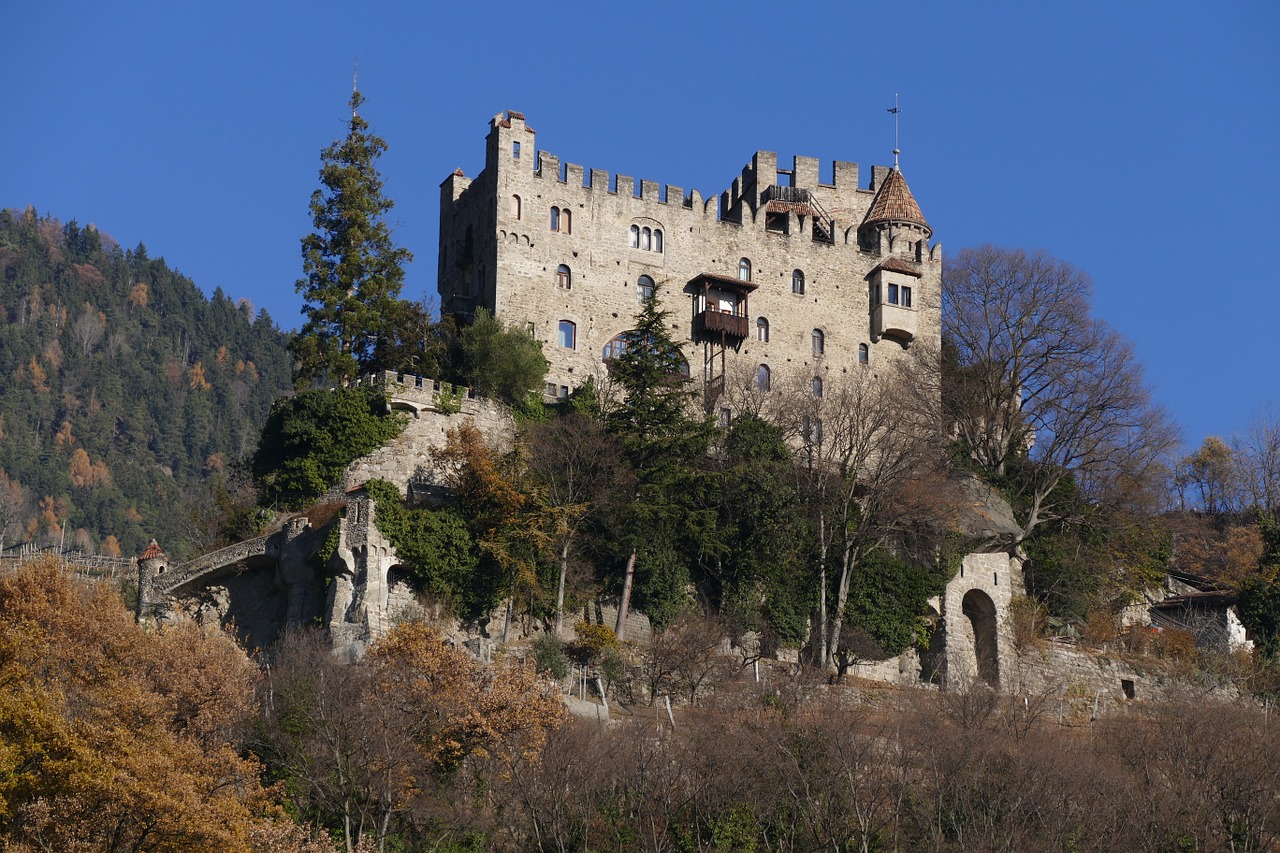
{"label": "whole pale stone castle with battlements and red-roofed corner turret", "polygon": [[902,173],[756,151],[732,186],[694,190],[562,164],[516,111],[489,126],[484,170],[440,187],[442,310],[484,307],[543,342],[549,396],[602,374],[660,287],[672,338],[713,406],[730,375],[817,396],[906,347],[940,343],[941,245]]}

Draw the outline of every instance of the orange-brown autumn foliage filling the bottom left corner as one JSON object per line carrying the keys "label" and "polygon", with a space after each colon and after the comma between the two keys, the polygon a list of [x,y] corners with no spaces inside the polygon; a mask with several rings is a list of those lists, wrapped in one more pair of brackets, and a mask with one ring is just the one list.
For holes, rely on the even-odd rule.
{"label": "orange-brown autumn foliage filling the bottom left corner", "polygon": [[282,813],[232,734],[252,688],[225,637],[143,633],[51,561],[0,578],[0,847],[269,849]]}

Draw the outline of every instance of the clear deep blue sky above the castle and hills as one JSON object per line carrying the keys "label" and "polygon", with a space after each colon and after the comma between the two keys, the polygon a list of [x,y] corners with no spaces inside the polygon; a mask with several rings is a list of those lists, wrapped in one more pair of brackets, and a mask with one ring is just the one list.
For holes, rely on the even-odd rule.
{"label": "clear deep blue sky above the castle and hills", "polygon": [[145,242],[284,328],[357,58],[411,297],[438,186],[502,109],[563,160],[709,195],[758,149],[891,163],[897,92],[947,251],[1088,270],[1190,444],[1280,402],[1275,3],[8,5],[0,206]]}

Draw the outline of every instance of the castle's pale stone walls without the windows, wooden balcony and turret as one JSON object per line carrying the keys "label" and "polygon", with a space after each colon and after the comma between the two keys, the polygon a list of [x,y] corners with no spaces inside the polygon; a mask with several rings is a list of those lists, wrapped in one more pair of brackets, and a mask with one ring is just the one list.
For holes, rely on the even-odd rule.
{"label": "castle's pale stone walls without the windows, wooden balcony and turret", "polygon": [[[499,115],[490,126],[484,172],[474,181],[461,175],[445,181],[439,287],[445,311],[470,314],[483,305],[507,323],[531,328],[552,365],[548,383],[573,388],[603,371],[604,346],[632,327],[641,275],[663,287],[672,337],[689,341],[692,300],[685,284],[700,273],[736,278],[742,257],[751,263],[758,289],[749,297],[750,337],[741,352],[730,352],[731,362],[748,365],[750,373],[764,364],[774,377],[794,374],[805,382],[823,377],[831,384],[861,369],[859,345],[868,346],[873,371],[902,356],[900,343],[872,334],[869,284],[884,257],[858,245],[858,225],[874,193],[858,188],[855,164],[836,163],[832,183],[823,183],[817,160],[796,158],[794,178],[780,178],[776,155],[762,151],[723,200],[704,200],[698,191],[686,195],[681,187],[562,165],[547,151],[535,156],[534,145],[524,117]],[[883,179],[886,170],[873,173]],[[763,193],[788,179],[812,192],[831,215],[833,243],[814,240],[810,218],[801,223],[795,213],[786,215],[786,233],[765,228]],[[567,231],[552,231],[553,206],[570,211]],[[634,224],[662,229],[663,251],[652,243],[648,250],[632,248]],[[922,278],[915,279],[911,313],[918,339],[937,346],[941,250],[911,254],[904,240],[893,252],[916,261]],[[571,272],[568,288],[558,283],[562,264]],[[795,270],[804,274],[803,295],[792,292]],[[755,339],[759,318],[768,320],[768,342]],[[561,346],[562,320],[575,324],[572,348]],[[813,352],[814,329],[824,334],[819,356]],[[699,378],[701,346],[687,345],[685,352]]]}

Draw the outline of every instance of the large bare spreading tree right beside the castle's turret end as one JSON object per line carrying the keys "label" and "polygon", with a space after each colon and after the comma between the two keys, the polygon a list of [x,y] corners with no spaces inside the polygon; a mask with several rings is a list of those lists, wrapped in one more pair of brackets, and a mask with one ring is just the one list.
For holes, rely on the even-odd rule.
{"label": "large bare spreading tree right beside the castle's turret end", "polygon": [[979,246],[946,269],[947,415],[989,475],[1033,462],[1011,483],[1024,537],[1055,517],[1064,476],[1142,479],[1176,442],[1130,343],[1091,316],[1091,295],[1085,273],[1043,252]]}

